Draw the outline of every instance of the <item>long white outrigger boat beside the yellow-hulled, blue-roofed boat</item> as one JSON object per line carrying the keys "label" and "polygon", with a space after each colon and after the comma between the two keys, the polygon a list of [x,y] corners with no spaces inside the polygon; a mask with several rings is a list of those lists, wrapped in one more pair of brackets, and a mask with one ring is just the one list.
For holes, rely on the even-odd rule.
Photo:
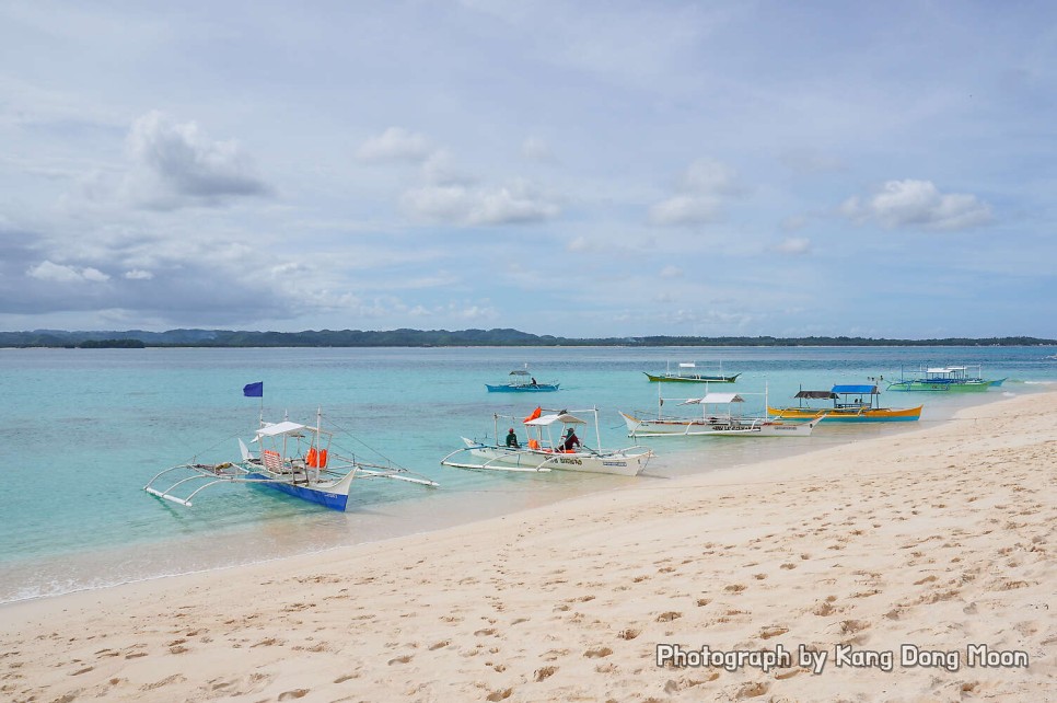
{"label": "long white outrigger boat beside the yellow-hulled, blue-roofed boat", "polygon": [[[768,417],[746,417],[735,415],[734,403],[744,403],[740,393],[706,393],[701,397],[667,399],[682,401],[680,405],[700,405],[700,417],[678,417],[663,415],[661,407],[664,399],[659,399],[657,417],[646,417],[620,413],[628,426],[628,437],[809,437],[822,417],[805,423],[790,423]],[[745,393],[744,395],[750,395]],[[754,393],[764,395],[766,391]],[[710,412],[710,406],[724,405],[727,412]]]}

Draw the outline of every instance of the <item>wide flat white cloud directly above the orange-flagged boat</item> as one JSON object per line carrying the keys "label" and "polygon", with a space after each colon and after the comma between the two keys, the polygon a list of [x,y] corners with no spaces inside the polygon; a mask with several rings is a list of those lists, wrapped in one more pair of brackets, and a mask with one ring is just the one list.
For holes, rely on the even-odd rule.
{"label": "wide flat white cloud directly above the orange-flagged boat", "polygon": [[560,208],[525,183],[471,188],[427,186],[404,194],[404,207],[430,221],[451,224],[509,224],[553,219]]}

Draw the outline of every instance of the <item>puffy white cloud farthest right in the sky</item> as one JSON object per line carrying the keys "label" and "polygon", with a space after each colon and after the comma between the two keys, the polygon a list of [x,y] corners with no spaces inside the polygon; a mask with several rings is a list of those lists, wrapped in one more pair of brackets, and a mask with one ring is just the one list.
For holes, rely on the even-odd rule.
{"label": "puffy white cloud farthest right in the sky", "polygon": [[931,181],[888,181],[867,197],[853,196],[840,211],[857,223],[878,221],[894,229],[924,227],[932,230],[961,230],[985,224],[991,208],[975,195],[940,193]]}

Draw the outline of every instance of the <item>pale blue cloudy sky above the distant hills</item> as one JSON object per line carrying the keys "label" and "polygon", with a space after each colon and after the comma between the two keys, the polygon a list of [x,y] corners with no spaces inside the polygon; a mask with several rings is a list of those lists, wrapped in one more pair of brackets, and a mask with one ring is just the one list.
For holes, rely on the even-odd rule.
{"label": "pale blue cloudy sky above the distant hills", "polygon": [[0,330],[1057,337],[1050,2],[0,3]]}

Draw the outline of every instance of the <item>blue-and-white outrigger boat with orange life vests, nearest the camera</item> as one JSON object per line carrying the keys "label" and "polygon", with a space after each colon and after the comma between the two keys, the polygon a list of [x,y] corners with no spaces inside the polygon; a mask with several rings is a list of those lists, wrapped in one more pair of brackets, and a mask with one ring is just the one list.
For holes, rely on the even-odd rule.
{"label": "blue-and-white outrigger boat with orange life vests, nearest the camera", "polygon": [[[372,464],[332,453],[334,434],[322,429],[321,419],[322,413],[316,413],[315,427],[288,420],[262,420],[260,428],[251,440],[251,443],[257,442],[260,447],[256,454],[240,439],[241,461],[178,464],[156,474],[147,482],[143,491],[190,507],[191,499],[210,486],[244,483],[280,491],[334,510],[345,510],[353,482],[361,479],[394,479],[423,486],[438,485],[403,468]],[[160,485],[167,487],[161,488]]]}

